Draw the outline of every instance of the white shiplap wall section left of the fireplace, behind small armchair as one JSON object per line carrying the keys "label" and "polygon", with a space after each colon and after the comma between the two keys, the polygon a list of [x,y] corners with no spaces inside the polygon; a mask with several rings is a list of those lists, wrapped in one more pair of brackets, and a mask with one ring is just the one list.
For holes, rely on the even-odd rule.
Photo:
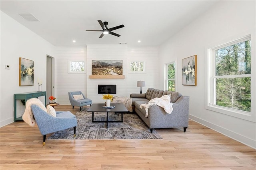
{"label": "white shiplap wall section left of the fireplace, behind small armchair", "polygon": [[87,73],[68,73],[69,60],[86,62],[86,47],[56,47],[54,95],[60,104],[70,104],[68,92],[82,91],[87,95]]}

